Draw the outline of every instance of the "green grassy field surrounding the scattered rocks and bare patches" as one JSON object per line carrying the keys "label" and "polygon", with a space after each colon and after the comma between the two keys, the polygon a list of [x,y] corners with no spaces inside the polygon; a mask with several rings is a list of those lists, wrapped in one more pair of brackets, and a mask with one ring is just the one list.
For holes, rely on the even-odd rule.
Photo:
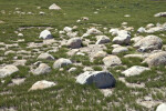
{"label": "green grassy field surrounding the scattered rocks and bare patches", "polygon": [[[62,10],[49,10],[49,6],[54,2]],[[41,7],[41,9],[38,9],[38,7]],[[25,14],[19,14],[17,11],[24,12]],[[45,14],[39,14],[40,11],[45,12]],[[94,13],[95,11],[98,13]],[[0,0],[0,21],[4,22],[0,23],[0,42],[12,44],[17,43],[19,39],[24,39],[23,42],[19,42],[18,47],[0,50],[0,57],[4,57],[0,64],[13,63],[12,59],[17,53],[4,56],[4,52],[8,50],[27,50],[31,51],[31,54],[34,56],[34,58],[27,58],[27,65],[18,67],[20,69],[19,72],[0,79],[0,109],[15,108],[18,111],[155,111],[157,105],[148,109],[138,104],[137,100],[144,100],[145,97],[149,95],[154,101],[166,101],[165,67],[152,68],[151,71],[145,71],[141,75],[126,78],[126,81],[129,83],[145,83],[145,88],[126,87],[125,83],[118,80],[118,78],[124,77],[121,71],[126,68],[110,68],[108,70],[113,73],[117,83],[113,89],[113,94],[104,97],[94,85],[80,85],[75,83],[75,75],[83,72],[82,69],[84,67],[92,65],[94,70],[102,70],[101,64],[103,62],[100,59],[90,62],[89,56],[70,57],[66,54],[69,49],[62,47],[58,52],[51,54],[56,59],[69,58],[82,62],[83,65],[74,65],[77,69],[72,73],[68,72],[68,70],[73,65],[69,65],[63,71],[52,69],[53,71],[49,74],[33,75],[30,72],[29,65],[38,61],[37,57],[39,54],[35,54],[32,51],[33,49],[27,47],[30,42],[42,42],[38,37],[46,27],[53,28],[51,32],[56,41],[61,40],[56,30],[62,30],[66,26],[77,26],[79,29],[76,30],[82,36],[86,31],[84,28],[93,27],[92,23],[111,29],[120,28],[122,22],[127,22],[129,27],[134,27],[135,31],[133,33],[135,33],[139,27],[145,27],[148,23],[166,22],[166,18],[154,18],[155,13],[163,11],[166,11],[165,0]],[[32,14],[28,14],[29,12]],[[131,14],[131,17],[125,18],[125,14]],[[90,20],[76,22],[82,17],[89,17]],[[30,27],[34,28],[19,31],[19,28]],[[23,37],[18,37],[15,31],[23,33]],[[163,33],[166,34],[166,32]],[[154,34],[160,37],[164,43],[166,43],[166,37],[160,36],[160,33]],[[107,36],[112,39],[111,34]],[[111,44],[106,46],[106,52],[112,51]],[[0,48],[3,47],[3,44],[0,44]],[[42,51],[48,51],[49,49],[51,49],[50,46],[40,48]],[[132,49],[128,53],[133,51],[135,50]],[[22,59],[23,56],[19,58]],[[135,64],[147,65],[141,63],[142,59],[123,59],[122,61],[127,68]],[[53,64],[53,61],[43,62],[50,65]],[[120,71],[117,72],[117,70]],[[20,85],[10,87],[9,83],[14,78],[27,79]],[[31,85],[39,80],[55,81],[58,85],[29,92],[28,90]]]}

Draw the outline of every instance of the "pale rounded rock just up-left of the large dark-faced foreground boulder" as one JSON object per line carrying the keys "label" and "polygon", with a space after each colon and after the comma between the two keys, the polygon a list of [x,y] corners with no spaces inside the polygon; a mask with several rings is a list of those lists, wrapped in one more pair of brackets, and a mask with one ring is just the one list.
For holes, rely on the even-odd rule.
{"label": "pale rounded rock just up-left of the large dark-faced foreground boulder", "polygon": [[54,69],[62,68],[62,67],[69,65],[69,64],[72,64],[71,60],[61,58],[53,63],[53,68]]}

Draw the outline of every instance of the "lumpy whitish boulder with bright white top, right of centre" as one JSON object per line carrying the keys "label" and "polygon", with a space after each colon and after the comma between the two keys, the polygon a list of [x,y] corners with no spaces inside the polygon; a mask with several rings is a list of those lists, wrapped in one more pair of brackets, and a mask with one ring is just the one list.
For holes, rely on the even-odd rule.
{"label": "lumpy whitish boulder with bright white top, right of centre", "polygon": [[131,34],[128,31],[121,30],[117,32],[117,37],[113,39],[113,43],[128,44],[131,42]]}

